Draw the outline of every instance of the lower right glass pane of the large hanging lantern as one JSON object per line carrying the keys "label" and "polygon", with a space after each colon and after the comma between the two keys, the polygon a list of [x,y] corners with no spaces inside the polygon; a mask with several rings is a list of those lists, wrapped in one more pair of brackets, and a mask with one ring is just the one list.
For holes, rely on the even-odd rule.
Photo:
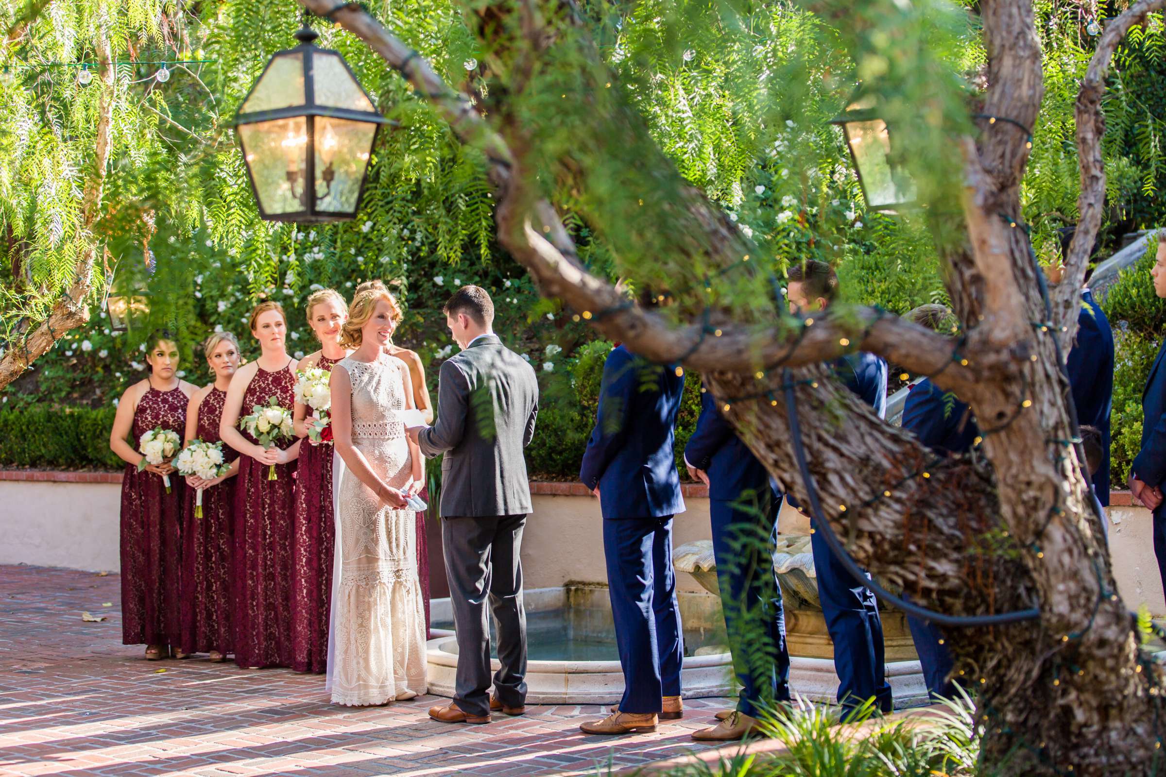
{"label": "lower right glass pane of the large hanging lantern", "polygon": [[316,116],[316,210],[352,213],[368,167],[377,125]]}

